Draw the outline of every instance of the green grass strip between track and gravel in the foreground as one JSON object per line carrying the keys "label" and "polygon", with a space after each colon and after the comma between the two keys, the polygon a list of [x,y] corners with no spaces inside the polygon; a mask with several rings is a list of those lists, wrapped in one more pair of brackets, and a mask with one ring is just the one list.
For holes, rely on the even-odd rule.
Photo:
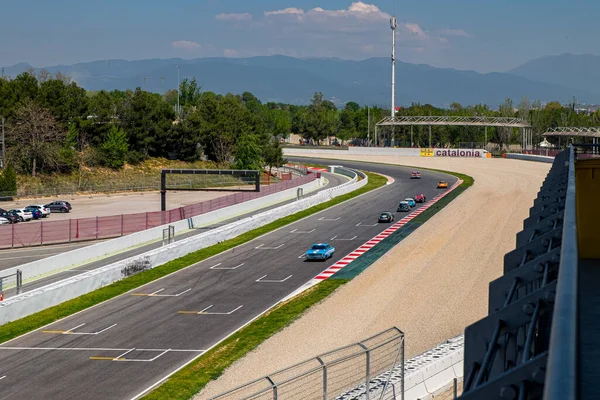
{"label": "green grass strip between track and gravel in the foreground", "polygon": [[319,303],[346,281],[336,279],[313,286],[294,299],[282,303],[242,328],[196,361],[173,375],[162,386],[144,397],[147,400],[189,399],[208,382],[263,341],[294,322],[310,307]]}

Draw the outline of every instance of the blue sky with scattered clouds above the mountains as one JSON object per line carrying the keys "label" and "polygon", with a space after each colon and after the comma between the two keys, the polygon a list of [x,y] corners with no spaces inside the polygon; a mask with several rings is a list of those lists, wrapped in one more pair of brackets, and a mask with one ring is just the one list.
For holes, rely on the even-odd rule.
{"label": "blue sky with scattered clouds above the mountains", "polygon": [[[2,0],[0,65],[106,59],[391,55],[503,72],[600,55],[598,0]],[[11,17],[13,16],[13,17]]]}

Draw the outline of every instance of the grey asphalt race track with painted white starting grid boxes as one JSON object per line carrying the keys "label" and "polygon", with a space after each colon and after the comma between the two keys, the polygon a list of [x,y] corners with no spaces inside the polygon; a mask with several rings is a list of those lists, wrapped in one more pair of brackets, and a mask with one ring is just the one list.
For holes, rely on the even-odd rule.
{"label": "grey asphalt race track with painted white starting grid boxes", "polygon": [[[456,181],[428,171],[410,180],[410,169],[395,166],[343,165],[396,182],[4,343],[0,399],[135,398],[386,229],[376,224],[381,211],[395,211],[416,193],[433,198],[440,179]],[[304,261],[315,242],[334,245],[334,257]]]}

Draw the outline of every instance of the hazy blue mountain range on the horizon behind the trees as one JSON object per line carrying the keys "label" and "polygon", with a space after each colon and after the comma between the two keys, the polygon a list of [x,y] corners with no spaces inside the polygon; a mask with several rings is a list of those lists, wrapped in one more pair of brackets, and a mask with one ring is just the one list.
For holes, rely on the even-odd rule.
{"label": "hazy blue mountain range on the horizon behind the trees", "polygon": [[[195,77],[202,90],[252,92],[264,102],[306,104],[316,91],[337,104],[390,102],[391,62],[388,58],[350,61],[337,58],[299,59],[287,56],[198,58],[184,60],[104,60],[44,67],[62,72],[90,91],[145,88],[162,92],[179,79]],[[32,68],[26,63],[5,67],[16,76]],[[40,70],[41,68],[34,68]],[[163,79],[164,77],[164,79]],[[600,103],[600,57],[563,54],[532,60],[507,72],[479,73],[426,64],[396,62],[396,104],[412,102],[448,106],[485,103],[492,107],[507,97],[530,100]]]}

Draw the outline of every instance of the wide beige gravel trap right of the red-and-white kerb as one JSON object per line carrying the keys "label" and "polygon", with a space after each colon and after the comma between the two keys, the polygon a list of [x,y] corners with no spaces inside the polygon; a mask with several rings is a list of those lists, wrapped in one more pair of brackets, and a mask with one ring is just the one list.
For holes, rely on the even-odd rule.
{"label": "wide beige gravel trap right of the red-and-white kerb", "polygon": [[[315,153],[306,156],[318,157]],[[504,254],[515,248],[515,235],[551,165],[489,158],[324,157],[461,172],[475,184],[361,275],[232,365],[196,398],[392,326],[406,333],[407,358],[463,333],[487,315],[488,285],[502,275]]]}

